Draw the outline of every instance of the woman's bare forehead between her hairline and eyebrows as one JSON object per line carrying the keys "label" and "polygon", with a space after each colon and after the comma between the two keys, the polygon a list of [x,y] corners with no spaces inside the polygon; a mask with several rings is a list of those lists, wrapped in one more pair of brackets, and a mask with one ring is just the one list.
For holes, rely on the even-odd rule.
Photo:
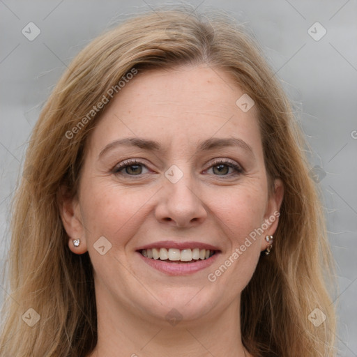
{"label": "woman's bare forehead between her hairline and eyebrows", "polygon": [[222,70],[185,66],[149,70],[131,79],[112,99],[93,140],[105,144],[123,137],[147,137],[169,144],[209,137],[244,137],[260,143],[257,112],[243,112],[240,86]]}

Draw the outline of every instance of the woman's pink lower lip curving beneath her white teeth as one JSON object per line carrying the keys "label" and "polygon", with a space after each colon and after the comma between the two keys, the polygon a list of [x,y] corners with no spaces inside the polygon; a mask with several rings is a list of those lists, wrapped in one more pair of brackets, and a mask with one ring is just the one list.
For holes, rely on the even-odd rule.
{"label": "woman's pink lower lip curving beneath her white teeth", "polygon": [[209,257],[208,259],[204,260],[197,260],[194,262],[190,263],[167,263],[167,261],[162,261],[162,260],[155,260],[151,258],[146,258],[144,255],[141,253],[137,252],[137,254],[143,259],[143,261],[148,264],[149,266],[155,268],[158,271],[161,271],[162,273],[165,273],[167,275],[189,275],[193,273],[197,273],[197,271],[202,271],[205,268],[208,268],[208,266],[211,266],[215,260],[217,259],[218,255],[220,253],[215,253],[212,255],[212,257]]}

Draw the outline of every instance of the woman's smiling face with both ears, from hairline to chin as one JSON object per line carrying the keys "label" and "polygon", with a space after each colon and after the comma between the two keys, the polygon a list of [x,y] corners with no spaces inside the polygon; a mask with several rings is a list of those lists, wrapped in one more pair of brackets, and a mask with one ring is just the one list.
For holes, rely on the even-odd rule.
{"label": "woman's smiling face with both ears, from hairline to chin", "polygon": [[268,195],[243,94],[227,73],[187,66],[137,75],[114,97],[63,219],[82,242],[70,249],[89,252],[97,304],[151,321],[239,306],[282,200],[279,181]]}

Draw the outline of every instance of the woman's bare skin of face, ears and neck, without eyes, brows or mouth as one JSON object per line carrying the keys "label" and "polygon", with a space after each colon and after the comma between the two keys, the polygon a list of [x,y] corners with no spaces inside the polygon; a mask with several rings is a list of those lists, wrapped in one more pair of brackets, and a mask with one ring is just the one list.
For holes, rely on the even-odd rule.
{"label": "woman's bare skin of face, ears and neck, without eyes, brows or mouth", "polygon": [[[207,278],[282,202],[280,180],[268,195],[257,111],[237,107],[242,95],[227,73],[204,65],[151,70],[121,89],[93,130],[79,192],[64,199],[61,213],[68,247],[75,254],[88,251],[94,268],[98,344],[91,356],[251,356],[241,343],[241,291],[278,219],[214,282]],[[98,158],[126,137],[155,140],[163,150],[113,146]],[[252,151],[199,151],[212,137],[241,139]],[[228,165],[219,171],[216,158],[243,172]],[[114,173],[127,159],[143,166]],[[165,177],[172,165],[183,173],[177,183]],[[132,174],[133,168],[142,173]],[[105,255],[93,247],[101,236],[112,244]],[[76,248],[72,239],[78,237]],[[136,252],[165,240],[209,243],[220,256],[203,271],[172,277]],[[176,326],[165,319],[172,308],[182,317]]]}

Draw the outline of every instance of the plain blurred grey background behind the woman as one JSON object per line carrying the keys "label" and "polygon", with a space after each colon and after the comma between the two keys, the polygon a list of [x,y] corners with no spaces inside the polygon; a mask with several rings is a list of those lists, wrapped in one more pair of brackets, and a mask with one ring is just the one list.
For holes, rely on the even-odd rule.
{"label": "plain blurred grey background behind the woman", "polygon": [[[226,10],[254,31],[312,147],[340,286],[339,356],[357,356],[357,1],[190,1]],[[73,56],[128,15],[162,1],[0,0],[0,258],[9,246],[10,199],[40,108]],[[40,35],[22,29],[34,22]],[[315,22],[326,35],[314,40]],[[317,34],[321,33],[320,30]],[[1,293],[6,286],[1,285]],[[1,298],[0,298],[1,303]]]}

